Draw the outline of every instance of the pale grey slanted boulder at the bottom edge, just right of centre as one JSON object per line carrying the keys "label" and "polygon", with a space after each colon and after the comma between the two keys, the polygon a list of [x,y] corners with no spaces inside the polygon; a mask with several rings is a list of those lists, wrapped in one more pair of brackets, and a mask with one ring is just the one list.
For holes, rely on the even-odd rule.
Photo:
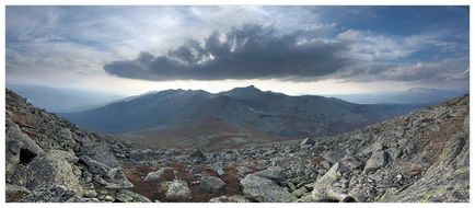
{"label": "pale grey slanted boulder at the bottom edge, just right of centre", "polygon": [[259,203],[291,203],[297,197],[280,187],[275,182],[255,174],[250,174],[241,181],[243,194]]}

